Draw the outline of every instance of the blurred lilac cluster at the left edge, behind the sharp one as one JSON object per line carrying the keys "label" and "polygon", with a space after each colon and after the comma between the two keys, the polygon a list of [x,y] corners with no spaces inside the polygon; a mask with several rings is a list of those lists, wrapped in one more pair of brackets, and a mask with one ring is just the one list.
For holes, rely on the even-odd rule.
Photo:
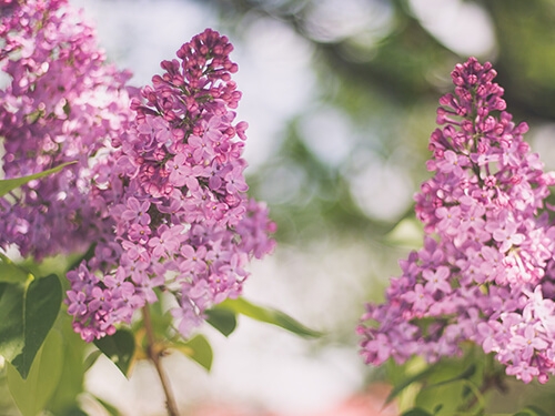
{"label": "blurred lilac cluster at the left edge, behind the sharp one", "polygon": [[92,190],[134,116],[129,73],[105,63],[94,30],[64,0],[0,4],[0,65],[11,81],[0,90],[4,177],[77,162],[0,199],[0,246],[39,260],[84,250],[111,233]]}

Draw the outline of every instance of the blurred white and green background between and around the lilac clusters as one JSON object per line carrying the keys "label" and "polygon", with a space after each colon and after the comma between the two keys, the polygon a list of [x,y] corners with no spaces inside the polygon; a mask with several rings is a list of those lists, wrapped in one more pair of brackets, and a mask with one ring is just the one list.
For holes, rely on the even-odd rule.
{"label": "blurred white and green background between and around the lilac clusters", "polygon": [[[224,338],[209,327],[204,369],[164,359],[185,415],[377,415],[383,369],[359,357],[364,303],[383,298],[397,260],[421,245],[412,195],[428,177],[427,139],[450,72],[490,60],[508,111],[555,166],[553,0],[71,0],[132,83],[211,27],[230,37],[249,122],[250,193],[278,223],[273,255],[253,264],[244,296],[323,331],[305,341],[241,319]],[[127,381],[108,361],[88,388],[123,415],[163,415],[154,371]],[[548,388],[548,387],[546,387]],[[514,399],[514,397],[513,397]],[[85,404],[91,415],[103,415]],[[392,408],[381,415],[393,415]]]}

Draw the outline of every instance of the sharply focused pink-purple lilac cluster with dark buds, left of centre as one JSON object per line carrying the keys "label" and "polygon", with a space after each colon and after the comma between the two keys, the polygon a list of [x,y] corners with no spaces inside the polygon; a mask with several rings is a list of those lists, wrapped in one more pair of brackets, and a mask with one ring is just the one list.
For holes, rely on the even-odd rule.
{"label": "sharply focused pink-purple lilac cluster with dark buds, left of centre", "polygon": [[272,250],[274,224],[245,195],[246,123],[234,123],[232,49],[206,29],[132,101],[129,138],[112,141],[113,166],[97,180],[101,190],[121,186],[110,206],[115,237],[68,274],[69,313],[85,341],[129,323],[158,300],[157,288],[174,296],[172,314],[188,336],[208,307],[241,293],[249,260]]}

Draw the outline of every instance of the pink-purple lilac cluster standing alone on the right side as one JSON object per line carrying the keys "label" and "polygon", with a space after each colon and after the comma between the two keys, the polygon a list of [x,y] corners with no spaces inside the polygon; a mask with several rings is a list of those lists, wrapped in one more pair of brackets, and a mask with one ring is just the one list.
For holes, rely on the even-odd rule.
{"label": "pink-purple lilac cluster standing alone on the right side", "polygon": [[[452,72],[430,140],[434,176],[415,195],[424,246],[402,261],[359,333],[367,364],[414,354],[433,362],[472,341],[525,383],[555,374],[553,173],[505,111],[491,63]],[[370,321],[370,322],[369,322]]]}

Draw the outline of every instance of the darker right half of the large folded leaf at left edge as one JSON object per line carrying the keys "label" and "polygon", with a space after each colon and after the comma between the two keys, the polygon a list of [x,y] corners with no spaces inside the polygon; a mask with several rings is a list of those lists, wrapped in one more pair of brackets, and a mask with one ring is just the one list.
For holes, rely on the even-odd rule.
{"label": "darker right half of the large folded leaf at left edge", "polygon": [[21,354],[8,358],[27,378],[31,364],[52,327],[62,303],[62,286],[56,275],[36,278],[27,286],[21,311],[23,349]]}

